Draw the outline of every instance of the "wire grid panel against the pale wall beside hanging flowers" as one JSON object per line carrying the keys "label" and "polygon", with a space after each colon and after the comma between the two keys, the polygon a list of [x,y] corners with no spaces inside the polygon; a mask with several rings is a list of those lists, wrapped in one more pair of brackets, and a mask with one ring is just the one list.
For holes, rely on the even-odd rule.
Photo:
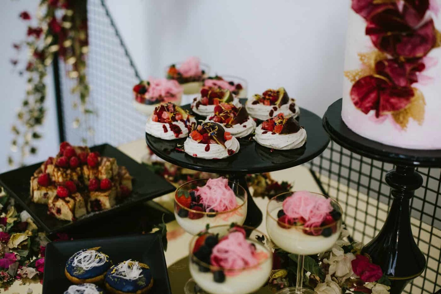
{"label": "wire grid panel against the pale wall beside hanging flowers", "polygon": [[135,110],[131,95],[140,77],[104,0],[87,1],[87,18],[88,108],[95,114],[82,115],[79,108],[72,108],[73,103],[79,105],[77,95],[71,94],[74,81],[64,77],[67,68],[60,62],[65,138],[75,144],[86,138],[87,145],[110,143],[113,146],[142,138],[146,117]]}

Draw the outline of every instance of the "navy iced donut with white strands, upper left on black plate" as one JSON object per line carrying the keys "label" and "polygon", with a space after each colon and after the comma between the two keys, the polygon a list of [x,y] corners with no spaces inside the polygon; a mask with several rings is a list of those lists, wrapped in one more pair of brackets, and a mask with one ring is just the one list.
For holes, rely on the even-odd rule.
{"label": "navy iced donut with white strands, upper left on black plate", "polygon": [[67,279],[74,284],[102,283],[112,261],[98,249],[100,247],[83,249],[72,255],[64,269]]}

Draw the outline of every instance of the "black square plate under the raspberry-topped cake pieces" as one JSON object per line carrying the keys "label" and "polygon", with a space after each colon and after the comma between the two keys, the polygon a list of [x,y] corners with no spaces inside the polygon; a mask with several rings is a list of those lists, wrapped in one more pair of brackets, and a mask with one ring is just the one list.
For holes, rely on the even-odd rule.
{"label": "black square plate under the raspberry-topped cake pieces", "polygon": [[129,208],[139,202],[151,200],[158,196],[170,193],[176,188],[168,183],[161,176],[156,175],[144,165],[136,162],[128,157],[123,152],[109,144],[98,145],[90,148],[91,151],[98,151],[101,155],[114,157],[118,165],[127,167],[127,170],[133,176],[133,191],[131,195],[122,203],[112,207],[108,210],[103,210],[94,213],[88,213],[78,220],[61,221],[55,217],[48,215],[47,206],[44,204],[37,204],[30,200],[30,177],[35,170],[41,165],[40,163],[25,166],[19,169],[12,170],[0,175],[0,185],[2,185],[7,193],[18,200],[20,205],[26,209],[34,220],[50,234],[71,229],[78,225],[90,223],[102,216],[108,216],[122,209]]}

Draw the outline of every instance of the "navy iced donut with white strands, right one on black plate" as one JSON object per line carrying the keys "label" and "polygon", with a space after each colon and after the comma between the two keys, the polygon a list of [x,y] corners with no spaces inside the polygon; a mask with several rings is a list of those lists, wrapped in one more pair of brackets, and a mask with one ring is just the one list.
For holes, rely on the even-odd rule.
{"label": "navy iced donut with white strands, right one on black plate", "polygon": [[153,287],[152,273],[148,265],[129,259],[109,269],[105,287],[112,294],[145,294]]}

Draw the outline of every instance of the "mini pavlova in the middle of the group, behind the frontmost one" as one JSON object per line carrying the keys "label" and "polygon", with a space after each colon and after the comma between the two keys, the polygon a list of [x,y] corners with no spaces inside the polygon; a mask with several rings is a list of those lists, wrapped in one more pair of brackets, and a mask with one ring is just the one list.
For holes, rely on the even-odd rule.
{"label": "mini pavlova in the middle of the group, behind the frontmost one", "polygon": [[214,113],[210,114],[206,121],[221,124],[225,131],[230,132],[236,138],[243,138],[254,132],[256,122],[248,115],[243,106],[235,107],[232,103],[220,103],[214,107]]}

